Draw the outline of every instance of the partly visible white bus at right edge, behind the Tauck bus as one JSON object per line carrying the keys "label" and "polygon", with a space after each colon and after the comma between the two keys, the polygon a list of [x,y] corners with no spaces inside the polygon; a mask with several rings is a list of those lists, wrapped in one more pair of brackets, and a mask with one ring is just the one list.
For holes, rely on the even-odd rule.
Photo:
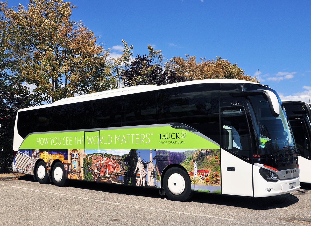
{"label": "partly visible white bus at right edge, behind the Tauck bus", "polygon": [[299,180],[311,183],[311,104],[303,101],[282,101],[293,137],[299,149]]}

